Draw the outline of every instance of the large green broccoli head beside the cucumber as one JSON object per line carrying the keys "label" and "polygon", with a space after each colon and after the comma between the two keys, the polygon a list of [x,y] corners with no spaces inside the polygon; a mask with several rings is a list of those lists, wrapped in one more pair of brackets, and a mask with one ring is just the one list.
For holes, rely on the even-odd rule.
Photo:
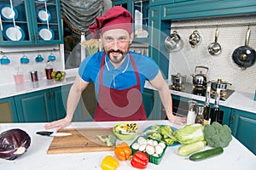
{"label": "large green broccoli head beside the cucumber", "polygon": [[212,147],[227,147],[232,140],[231,129],[227,125],[221,125],[218,122],[212,122],[204,128],[207,144]]}

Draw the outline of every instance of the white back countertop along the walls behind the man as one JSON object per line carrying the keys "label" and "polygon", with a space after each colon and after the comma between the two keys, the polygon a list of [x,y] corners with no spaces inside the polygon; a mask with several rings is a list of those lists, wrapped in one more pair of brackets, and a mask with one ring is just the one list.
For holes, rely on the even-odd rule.
{"label": "white back countertop along the walls behind the man", "polygon": [[[19,95],[19,94],[35,92],[38,90],[44,90],[47,88],[55,88],[62,85],[71,84],[74,82],[74,80],[75,80],[75,77],[67,77],[62,82],[55,82],[54,80],[47,80],[44,78],[44,79],[38,80],[38,82],[24,82],[19,85],[16,85],[15,83],[3,84],[3,85],[0,85],[0,99]],[[171,83],[167,82],[167,84],[170,85]],[[145,88],[154,89],[149,84],[149,82],[145,83]],[[170,89],[170,93],[178,96],[182,96],[184,98],[205,101],[205,97],[198,96],[195,94],[188,94],[181,91],[175,91],[172,89]],[[210,102],[214,103],[214,99],[210,99]],[[256,101],[253,100],[253,94],[247,94],[244,92],[235,91],[225,101],[220,100],[219,105],[238,109],[241,111],[256,113]]]}

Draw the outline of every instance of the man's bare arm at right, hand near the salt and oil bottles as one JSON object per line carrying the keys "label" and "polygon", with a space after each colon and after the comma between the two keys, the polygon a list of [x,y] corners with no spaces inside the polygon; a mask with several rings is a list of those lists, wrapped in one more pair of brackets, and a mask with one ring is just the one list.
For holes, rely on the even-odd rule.
{"label": "man's bare arm at right, hand near the salt and oil bottles", "polygon": [[185,117],[174,116],[172,114],[171,93],[160,71],[158,72],[156,77],[154,77],[154,79],[150,81],[150,83],[154,88],[158,90],[158,93],[160,94],[161,102],[164,105],[164,108],[166,110],[166,116],[168,117],[169,121],[177,124],[185,123],[186,122]]}

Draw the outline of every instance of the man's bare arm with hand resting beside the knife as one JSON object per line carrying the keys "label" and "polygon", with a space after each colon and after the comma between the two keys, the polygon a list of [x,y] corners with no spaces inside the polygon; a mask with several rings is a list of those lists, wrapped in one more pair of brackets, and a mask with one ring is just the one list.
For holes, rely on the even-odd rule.
{"label": "man's bare arm with hand resting beside the knife", "polygon": [[63,119],[49,122],[44,126],[45,129],[54,128],[57,129],[67,127],[67,125],[70,124],[72,121],[72,117],[74,114],[74,111],[77,108],[77,105],[79,103],[79,99],[81,97],[82,92],[84,89],[88,86],[89,82],[84,82],[79,75],[77,75],[75,82],[73,83],[73,86],[70,88],[68,98],[67,98],[67,116]]}

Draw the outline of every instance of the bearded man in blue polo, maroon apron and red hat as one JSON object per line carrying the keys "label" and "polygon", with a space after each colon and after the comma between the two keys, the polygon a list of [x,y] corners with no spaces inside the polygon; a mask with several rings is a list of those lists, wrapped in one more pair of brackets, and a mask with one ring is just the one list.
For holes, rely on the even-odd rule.
{"label": "bearded man in blue polo, maroon apron and red hat", "polygon": [[148,80],[158,90],[169,121],[186,122],[184,117],[172,114],[171,94],[154,60],[129,52],[134,37],[132,21],[131,13],[120,6],[96,18],[96,23],[89,28],[93,38],[102,39],[104,51],[86,57],[81,63],[67,99],[67,116],[48,123],[46,129],[70,124],[80,95],[89,82],[96,85],[95,121],[146,120],[142,93]]}

